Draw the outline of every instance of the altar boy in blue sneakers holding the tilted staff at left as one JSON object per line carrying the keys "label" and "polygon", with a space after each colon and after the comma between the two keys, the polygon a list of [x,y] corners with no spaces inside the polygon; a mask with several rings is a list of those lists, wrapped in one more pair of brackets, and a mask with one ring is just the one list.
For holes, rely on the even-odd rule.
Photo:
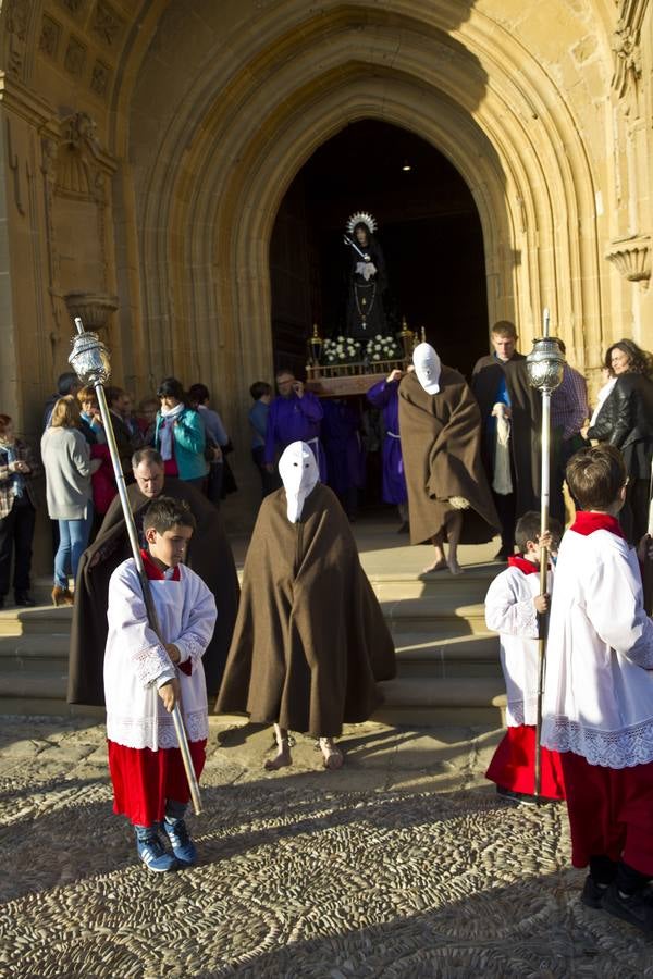
{"label": "altar boy in blue sneakers holding the tilted staff at left", "polygon": [[[197,857],[184,823],[189,790],[171,717],[180,704],[199,778],[208,734],[201,657],[213,633],[215,602],[182,563],[194,529],[188,506],[171,497],[157,497],[144,516],[141,556],[161,639],[149,624],[134,559],[123,561],[109,583],[104,695],[113,811],[131,820],[138,856],[157,872]],[[159,837],[161,825],[172,854]]]}

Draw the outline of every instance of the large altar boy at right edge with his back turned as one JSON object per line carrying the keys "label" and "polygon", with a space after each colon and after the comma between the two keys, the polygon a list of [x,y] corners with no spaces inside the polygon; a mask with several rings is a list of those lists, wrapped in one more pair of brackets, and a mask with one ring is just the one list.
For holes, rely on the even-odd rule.
{"label": "large altar boy at right edge with his back turned", "polygon": [[562,753],[571,862],[590,867],[582,902],[653,934],[653,622],[617,520],[626,471],[597,445],[566,475],[582,510],[556,565],[542,743]]}

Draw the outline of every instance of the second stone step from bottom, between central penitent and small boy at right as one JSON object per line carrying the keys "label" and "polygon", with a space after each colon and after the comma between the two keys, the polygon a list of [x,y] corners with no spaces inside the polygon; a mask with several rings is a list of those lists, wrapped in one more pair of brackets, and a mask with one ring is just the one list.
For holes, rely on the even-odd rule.
{"label": "second stone step from bottom, between central penitent and small boy at right", "polygon": [[498,636],[479,633],[433,639],[430,633],[397,633],[399,677],[501,677]]}

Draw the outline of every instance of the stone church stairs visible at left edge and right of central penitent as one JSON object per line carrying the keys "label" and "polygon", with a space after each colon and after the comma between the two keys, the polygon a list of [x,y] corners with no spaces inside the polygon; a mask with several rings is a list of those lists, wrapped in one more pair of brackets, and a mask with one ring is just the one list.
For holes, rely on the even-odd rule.
{"label": "stone church stairs visible at left edge and right of central penitent", "polygon": [[[483,614],[497,566],[468,565],[457,578],[367,570],[397,654],[397,677],[382,684],[385,703],[377,719],[500,727],[505,689],[498,641]],[[37,582],[35,597],[46,602],[49,588]],[[65,703],[71,619],[70,608],[45,604],[0,611],[0,712],[101,715]]]}

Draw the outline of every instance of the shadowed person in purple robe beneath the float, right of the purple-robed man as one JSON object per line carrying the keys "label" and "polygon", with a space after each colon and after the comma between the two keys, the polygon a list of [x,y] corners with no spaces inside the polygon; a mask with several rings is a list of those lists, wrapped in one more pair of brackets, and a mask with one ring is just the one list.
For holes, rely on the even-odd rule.
{"label": "shadowed person in purple robe beneath the float, right of the purple-robed man", "polygon": [[321,439],[326,453],[326,482],[353,521],[358,510],[358,491],[365,486],[360,413],[344,398],[325,398],[322,408]]}

